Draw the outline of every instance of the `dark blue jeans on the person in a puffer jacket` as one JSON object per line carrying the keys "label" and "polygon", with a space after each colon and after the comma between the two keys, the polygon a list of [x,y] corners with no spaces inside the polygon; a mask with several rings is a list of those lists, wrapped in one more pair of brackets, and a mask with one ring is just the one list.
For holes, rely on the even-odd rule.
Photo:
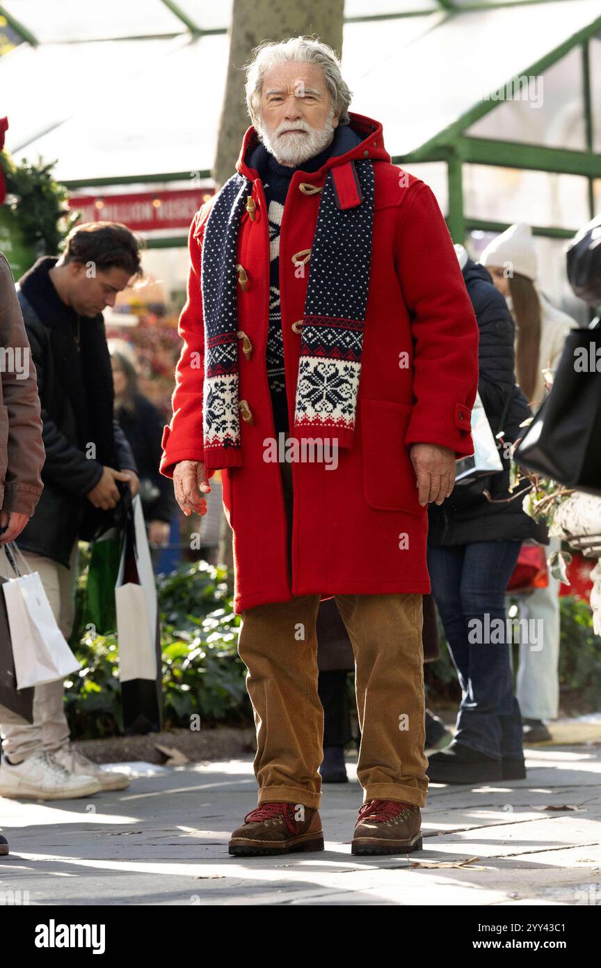
{"label": "dark blue jeans on the person in a puffer jacket", "polygon": [[[524,755],[511,646],[504,634],[505,589],[521,545],[476,541],[428,548],[432,592],[463,693],[455,741],[494,759]],[[491,628],[499,631],[491,634]]]}

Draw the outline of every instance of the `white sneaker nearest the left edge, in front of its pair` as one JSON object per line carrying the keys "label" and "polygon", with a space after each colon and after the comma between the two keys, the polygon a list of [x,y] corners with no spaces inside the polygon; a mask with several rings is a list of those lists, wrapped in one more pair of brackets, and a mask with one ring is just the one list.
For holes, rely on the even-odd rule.
{"label": "white sneaker nearest the left edge, in front of its pair", "polygon": [[0,764],[0,797],[10,800],[72,800],[100,793],[95,776],[74,776],[48,753],[35,753],[22,763]]}

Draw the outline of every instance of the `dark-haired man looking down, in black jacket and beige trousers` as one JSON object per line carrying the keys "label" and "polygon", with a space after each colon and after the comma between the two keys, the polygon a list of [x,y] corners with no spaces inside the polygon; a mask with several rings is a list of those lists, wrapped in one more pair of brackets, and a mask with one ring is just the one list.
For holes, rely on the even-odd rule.
{"label": "dark-haired man looking down, in black jacket and beige trousers", "polygon": [[[101,312],[140,272],[128,228],[92,223],[72,230],[60,258],[38,259],[19,280],[18,301],[38,375],[45,464],[43,495],[18,548],[38,571],[65,638],[72,632],[77,541],[91,540],[139,483],[129,444],[113,417],[113,380]],[[128,785],[72,749],[62,681],[37,686],[34,723],[3,713],[0,796],[86,797]]]}

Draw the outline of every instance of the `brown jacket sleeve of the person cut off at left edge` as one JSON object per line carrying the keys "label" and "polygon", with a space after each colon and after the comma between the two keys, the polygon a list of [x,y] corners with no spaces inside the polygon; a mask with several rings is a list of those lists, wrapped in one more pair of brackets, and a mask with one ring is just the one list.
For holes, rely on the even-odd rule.
{"label": "brown jacket sleeve of the person cut off at left edge", "polygon": [[[8,463],[3,511],[31,517],[43,491],[42,417],[36,368],[14,291],[9,263],[0,255],[0,342],[21,349],[28,368],[2,368],[2,399],[8,416]],[[27,373],[26,378],[22,378]]]}

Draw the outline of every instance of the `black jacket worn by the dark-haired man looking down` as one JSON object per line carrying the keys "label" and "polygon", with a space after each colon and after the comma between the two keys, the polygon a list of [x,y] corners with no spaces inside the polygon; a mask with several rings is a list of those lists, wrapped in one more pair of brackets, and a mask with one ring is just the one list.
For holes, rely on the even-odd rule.
{"label": "black jacket worn by the dark-haired man looking down", "polygon": [[113,417],[113,378],[104,320],[76,316],[58,298],[48,277],[56,258],[39,259],[19,280],[17,298],[38,376],[42,405],[43,492],[36,512],[17,538],[31,551],[69,567],[76,538],[90,540],[112,518],[86,495],[102,467],[135,470],[129,443]]}

